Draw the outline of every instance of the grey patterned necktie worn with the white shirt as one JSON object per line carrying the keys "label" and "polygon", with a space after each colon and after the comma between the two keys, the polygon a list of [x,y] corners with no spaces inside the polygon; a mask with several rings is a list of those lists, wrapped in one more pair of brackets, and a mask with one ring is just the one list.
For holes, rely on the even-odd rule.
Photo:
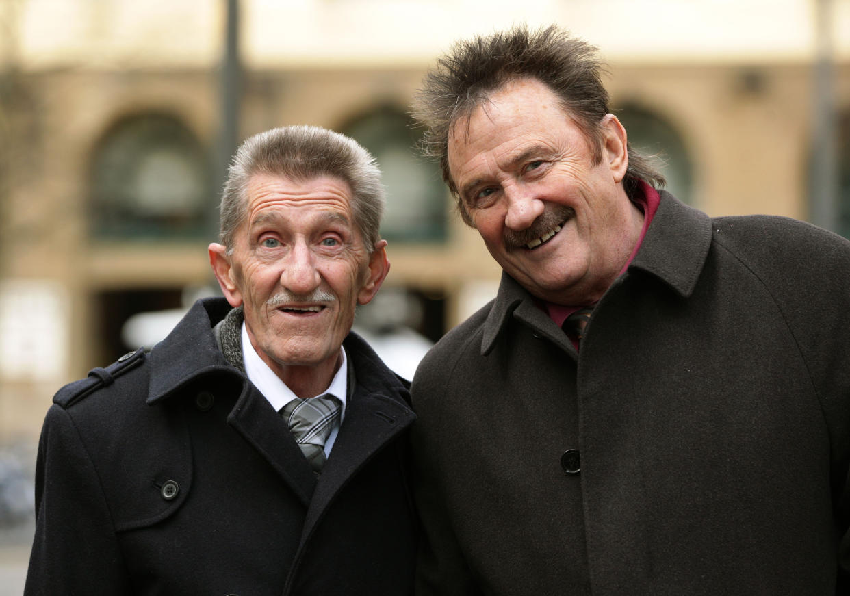
{"label": "grey patterned necktie worn with the white shirt", "polygon": [[307,400],[292,400],[280,410],[280,416],[286,420],[310,468],[316,473],[325,465],[325,441],[337,425],[342,406],[336,397],[324,394]]}

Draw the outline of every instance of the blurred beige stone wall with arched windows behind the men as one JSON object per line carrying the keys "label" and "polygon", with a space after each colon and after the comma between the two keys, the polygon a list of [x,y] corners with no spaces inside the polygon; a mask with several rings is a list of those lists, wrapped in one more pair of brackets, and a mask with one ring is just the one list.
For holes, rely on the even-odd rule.
{"label": "blurred beige stone wall with arched windows behind the men", "polygon": [[[246,74],[241,134],[281,124],[341,128],[377,105],[405,109],[426,64],[408,68],[266,69]],[[755,77],[755,82],[753,78]],[[805,219],[811,145],[808,65],[640,65],[611,68],[615,105],[635,103],[666,117],[694,162],[694,202],[711,215],[777,213]],[[34,435],[50,394],[95,362],[92,296],[105,289],[210,281],[206,241],[93,241],[88,235],[88,167],[103,133],[122,116],[166,111],[212,148],[217,81],[209,70],[21,72],[29,101],[4,114],[9,169],[0,221],[0,279],[59,282],[70,309],[65,370],[37,382],[0,378],[0,440]],[[850,108],[850,63],[839,70],[838,104]],[[446,196],[446,209],[452,208]],[[496,281],[499,269],[473,230],[451,220],[443,245],[390,246],[389,284],[446,292],[454,326],[467,284]],[[212,240],[212,239],[211,239]]]}

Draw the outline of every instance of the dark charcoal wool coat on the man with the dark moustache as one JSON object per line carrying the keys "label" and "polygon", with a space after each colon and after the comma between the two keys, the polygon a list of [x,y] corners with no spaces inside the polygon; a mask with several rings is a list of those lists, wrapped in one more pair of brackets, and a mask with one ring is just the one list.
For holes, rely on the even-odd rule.
{"label": "dark charcoal wool coat on the man with the dark moustache", "polygon": [[411,394],[420,595],[850,593],[838,236],[662,193],[580,353],[505,275]]}

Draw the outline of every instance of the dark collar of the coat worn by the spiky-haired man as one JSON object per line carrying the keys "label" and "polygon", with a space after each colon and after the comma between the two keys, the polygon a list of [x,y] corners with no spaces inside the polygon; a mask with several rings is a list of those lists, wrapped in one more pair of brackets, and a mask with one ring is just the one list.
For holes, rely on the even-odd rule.
{"label": "dark collar of the coat worn by the spiky-haired man", "polygon": [[[694,292],[706,263],[711,246],[711,219],[665,190],[660,191],[660,197],[658,211],[626,275],[643,270],[687,298]],[[511,315],[534,326],[536,331],[556,343],[564,343],[564,333],[537,307],[535,298],[513,277],[502,272],[499,292],[482,328],[483,355],[494,348]]]}

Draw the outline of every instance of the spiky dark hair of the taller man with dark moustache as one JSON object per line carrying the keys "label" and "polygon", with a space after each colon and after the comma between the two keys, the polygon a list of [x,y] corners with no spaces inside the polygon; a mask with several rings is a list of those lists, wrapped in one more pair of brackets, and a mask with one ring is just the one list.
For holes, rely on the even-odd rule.
{"label": "spiky dark hair of the taller man with dark moustache", "polygon": [[[450,52],[428,72],[414,99],[413,116],[427,131],[420,141],[426,156],[439,160],[443,180],[457,200],[463,220],[471,219],[451,180],[448,142],[451,127],[468,118],[492,94],[510,82],[532,78],[558,97],[588,139],[594,165],[602,159],[602,122],[609,113],[609,94],[602,83],[603,63],[597,48],[559,29],[548,26],[530,33],[524,26],[476,36],[455,43]],[[666,181],[648,157],[628,146],[629,163],[623,186],[634,200],[639,181],[660,188]]]}

